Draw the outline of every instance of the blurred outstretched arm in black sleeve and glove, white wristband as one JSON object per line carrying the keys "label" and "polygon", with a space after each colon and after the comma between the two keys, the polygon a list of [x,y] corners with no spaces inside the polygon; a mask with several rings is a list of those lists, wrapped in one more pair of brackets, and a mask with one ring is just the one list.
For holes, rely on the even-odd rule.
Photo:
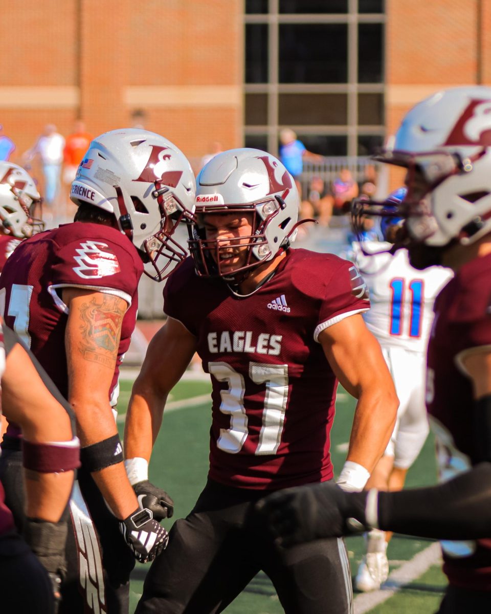
{"label": "blurred outstretched arm in black sleeve and glove, white wristband", "polygon": [[323,482],[275,492],[257,503],[280,545],[369,529],[436,539],[491,538],[491,464],[438,486],[399,492],[344,492]]}

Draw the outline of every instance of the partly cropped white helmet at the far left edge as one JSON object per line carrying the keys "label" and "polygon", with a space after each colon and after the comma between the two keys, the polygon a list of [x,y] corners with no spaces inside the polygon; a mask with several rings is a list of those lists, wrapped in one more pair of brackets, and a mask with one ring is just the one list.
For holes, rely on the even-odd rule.
{"label": "partly cropped white helmet at the far left edge", "polygon": [[12,162],[0,162],[0,223],[6,235],[25,239],[44,230],[44,222],[34,217],[41,196],[33,178]]}

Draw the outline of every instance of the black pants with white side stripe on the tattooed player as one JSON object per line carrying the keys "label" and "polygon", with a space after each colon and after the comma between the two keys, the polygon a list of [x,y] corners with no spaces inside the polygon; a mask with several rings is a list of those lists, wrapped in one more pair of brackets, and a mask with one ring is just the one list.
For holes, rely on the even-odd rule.
{"label": "black pants with white side stripe on the tattooed player", "polygon": [[[17,440],[4,438],[0,456],[0,480],[5,490],[6,504],[14,515],[18,531],[22,532],[25,495],[22,456],[18,448]],[[67,572],[61,585],[58,614],[90,612],[90,609],[85,609],[85,604],[91,602],[95,603],[93,612],[98,612],[99,600],[107,614],[127,614],[130,608],[133,554],[123,540],[117,519],[110,513],[95,482],[83,468],[78,472],[78,486],[92,523],[80,525],[72,511],[69,525],[73,530],[68,532]],[[78,541],[75,538],[77,528]]]}

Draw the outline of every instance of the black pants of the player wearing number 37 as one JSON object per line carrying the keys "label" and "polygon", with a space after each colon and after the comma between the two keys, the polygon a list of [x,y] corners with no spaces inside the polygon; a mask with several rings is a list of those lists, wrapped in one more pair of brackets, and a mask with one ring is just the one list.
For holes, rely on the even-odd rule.
{"label": "black pants of the player wearing number 37", "polygon": [[277,548],[250,518],[264,494],[209,480],[152,563],[136,613],[222,612],[263,570],[287,614],[348,614],[352,589],[344,542],[334,538]]}

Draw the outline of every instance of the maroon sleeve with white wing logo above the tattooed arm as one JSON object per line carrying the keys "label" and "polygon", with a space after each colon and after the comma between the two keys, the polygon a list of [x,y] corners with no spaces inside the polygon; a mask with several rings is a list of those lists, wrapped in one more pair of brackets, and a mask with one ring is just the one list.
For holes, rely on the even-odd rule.
{"label": "maroon sleeve with white wing logo above the tattooed arm", "polygon": [[141,273],[136,255],[123,244],[104,236],[77,238],[56,251],[52,287],[106,291],[131,305]]}

